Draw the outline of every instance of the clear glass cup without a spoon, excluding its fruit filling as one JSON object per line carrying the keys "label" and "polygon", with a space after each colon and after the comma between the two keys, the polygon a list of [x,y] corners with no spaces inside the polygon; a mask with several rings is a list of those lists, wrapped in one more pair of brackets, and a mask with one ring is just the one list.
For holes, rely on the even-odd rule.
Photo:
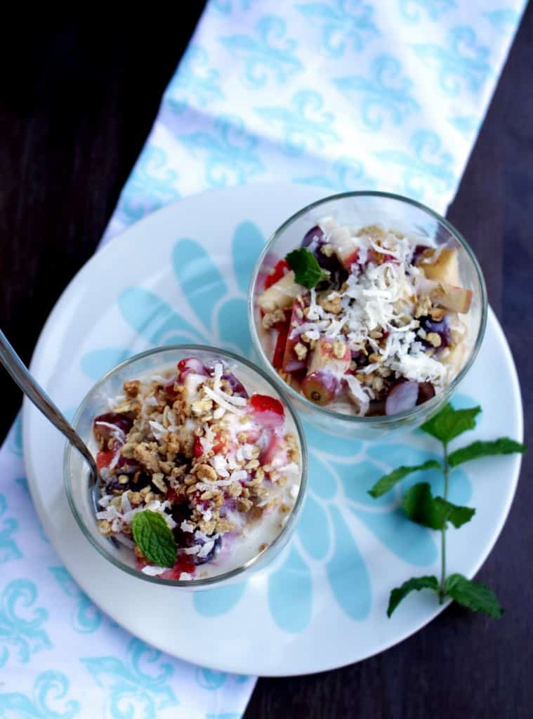
{"label": "clear glass cup without a spoon, excluding its fruit filling", "polygon": [[[468,332],[463,340],[464,354],[460,370],[431,399],[391,415],[358,416],[357,413],[342,413],[327,404],[321,406],[307,399],[297,383],[296,387],[289,385],[273,367],[273,339],[263,327],[258,299],[265,290],[265,280],[275,276],[272,275],[273,268],[278,262],[288,252],[301,247],[304,237],[311,234],[311,228],[327,217],[341,226],[357,229],[378,224],[392,232],[404,234],[414,244],[433,245],[437,250],[447,247],[456,255],[461,288],[471,293],[470,308],[465,315]],[[447,220],[431,209],[408,198],[388,193],[344,193],[312,203],[291,216],[273,233],[252,275],[248,319],[252,342],[263,365],[282,384],[303,418],[329,434],[355,439],[380,439],[391,432],[398,434],[415,429],[450,400],[468,373],[483,341],[487,319],[486,287],[478,261],[468,243]]]}

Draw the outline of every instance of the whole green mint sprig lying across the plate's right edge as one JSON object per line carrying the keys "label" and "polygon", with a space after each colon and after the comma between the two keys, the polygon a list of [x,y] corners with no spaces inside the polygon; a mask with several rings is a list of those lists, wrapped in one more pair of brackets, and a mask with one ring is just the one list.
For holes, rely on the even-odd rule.
{"label": "whole green mint sprig lying across the plate's right edge", "polygon": [[444,491],[442,497],[434,497],[428,482],[418,482],[407,490],[401,501],[401,507],[406,516],[416,523],[435,529],[441,533],[441,577],[411,577],[401,587],[391,591],[387,615],[391,617],[399,603],[413,591],[430,589],[436,592],[439,603],[445,597],[455,600],[474,612],[484,612],[494,619],[499,619],[504,613],[494,592],[481,582],[473,582],[463,574],[446,574],[446,531],[451,523],[455,528],[463,526],[475,515],[475,509],[453,504],[448,500],[450,485],[450,471],[463,462],[470,462],[480,457],[494,457],[498,454],[514,454],[526,451],[524,444],[501,437],[493,441],[475,441],[472,444],[448,452],[448,444],[452,439],[463,432],[475,428],[475,418],[481,408],[455,409],[447,404],[442,410],[422,425],[426,434],[439,440],[442,444],[442,463],[429,459],[423,464],[411,467],[402,465],[396,470],[383,475],[369,490],[369,494],[378,498],[391,490],[398,482],[413,472],[424,472],[429,469],[439,469],[444,477]]}

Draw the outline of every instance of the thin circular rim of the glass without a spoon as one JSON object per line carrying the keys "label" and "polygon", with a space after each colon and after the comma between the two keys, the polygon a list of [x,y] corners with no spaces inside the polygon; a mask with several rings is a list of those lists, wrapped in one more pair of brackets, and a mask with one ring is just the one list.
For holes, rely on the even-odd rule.
{"label": "thin circular rim of the glass without a spoon", "polygon": [[[319,207],[320,205],[336,201],[336,200],[344,200],[348,198],[355,198],[355,197],[377,197],[377,198],[386,198],[389,200],[398,201],[398,203],[401,204],[407,204],[416,207],[419,210],[422,210],[425,214],[429,215],[433,219],[437,220],[439,224],[442,224],[445,226],[445,228],[457,239],[457,242],[463,247],[465,250],[470,262],[472,262],[472,265],[475,270],[475,275],[478,279],[478,283],[480,285],[481,290],[481,317],[480,317],[480,325],[478,329],[478,334],[475,338],[475,342],[473,345],[473,348],[470,352],[470,355],[461,368],[460,372],[457,373],[457,375],[453,378],[453,380],[450,382],[449,385],[443,390],[441,393],[435,395],[432,399],[427,400],[427,402],[424,402],[421,405],[418,405],[412,409],[406,410],[404,412],[398,412],[397,414],[393,415],[383,415],[383,416],[377,416],[377,417],[360,417],[357,415],[352,414],[344,414],[342,412],[336,412],[330,409],[327,409],[326,407],[322,407],[319,405],[314,404],[310,400],[308,400],[304,395],[302,395],[299,392],[296,392],[290,385],[288,385],[286,382],[283,382],[281,377],[278,375],[278,372],[275,371],[274,367],[272,366],[270,359],[268,359],[267,354],[265,353],[265,350],[263,349],[263,344],[260,341],[258,329],[255,325],[255,307],[254,307],[254,297],[255,297],[255,285],[257,284],[258,275],[260,267],[263,265],[263,260],[265,259],[266,255],[268,255],[268,252],[270,251],[270,248],[275,244],[275,241],[278,239],[279,235],[284,232],[291,224],[293,224],[294,221],[299,219],[301,216],[307,214],[309,211],[315,209],[316,207]],[[263,250],[261,254],[258,257],[257,263],[255,265],[255,269],[252,273],[252,278],[250,280],[250,286],[248,288],[248,325],[250,326],[250,334],[252,336],[252,342],[254,344],[254,347],[256,351],[258,352],[260,358],[262,359],[263,363],[266,367],[268,367],[268,371],[270,375],[275,378],[275,383],[283,385],[283,388],[286,390],[286,393],[288,396],[296,401],[301,402],[309,411],[311,412],[317,412],[319,414],[322,414],[325,418],[334,419],[335,421],[345,421],[348,423],[352,423],[353,425],[360,425],[360,426],[387,426],[391,423],[396,423],[397,421],[402,420],[409,420],[419,413],[428,413],[431,412],[434,408],[438,408],[442,405],[443,400],[446,400],[450,397],[450,395],[453,393],[457,385],[463,380],[463,377],[467,374],[468,370],[470,370],[470,367],[472,367],[473,362],[475,360],[475,357],[477,357],[478,352],[481,347],[481,343],[483,342],[483,337],[485,336],[485,330],[487,326],[487,314],[488,314],[488,299],[487,299],[487,288],[485,284],[485,278],[483,278],[483,273],[481,271],[481,267],[479,265],[477,257],[475,257],[475,254],[473,252],[473,249],[470,247],[468,242],[465,240],[463,235],[455,229],[455,227],[447,221],[442,215],[439,215],[438,212],[432,210],[431,208],[427,207],[426,205],[422,204],[422,202],[418,202],[416,200],[411,200],[411,198],[404,197],[402,195],[396,195],[394,193],[389,192],[378,192],[378,191],[354,191],[354,192],[343,192],[338,193],[335,195],[329,195],[327,197],[324,197],[320,200],[316,200],[314,202],[311,202],[309,205],[306,205],[304,208],[299,210],[298,212],[295,212],[293,215],[291,215],[283,224],[281,224],[278,229],[275,229],[275,231],[270,235],[267,242],[265,243],[265,247],[263,247]]]}

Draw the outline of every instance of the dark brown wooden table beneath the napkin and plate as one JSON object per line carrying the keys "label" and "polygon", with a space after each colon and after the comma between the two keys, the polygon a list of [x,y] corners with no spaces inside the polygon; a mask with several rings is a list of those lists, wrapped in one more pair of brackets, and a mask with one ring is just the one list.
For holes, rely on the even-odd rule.
{"label": "dark brown wooden table beneath the napkin and plate", "polygon": [[[0,324],[29,362],[68,280],[94,252],[203,3],[160,14],[36,22],[0,43]],[[8,42],[9,40],[9,42]],[[531,444],[533,5],[448,216],[473,244],[514,353]],[[0,375],[4,436],[20,403]],[[533,452],[479,573],[507,613],[449,608],[385,654],[336,672],[260,679],[246,719],[533,716]],[[502,476],[505,482],[506,477]],[[319,646],[316,651],[320,651]],[[95,718],[96,719],[96,718]]]}

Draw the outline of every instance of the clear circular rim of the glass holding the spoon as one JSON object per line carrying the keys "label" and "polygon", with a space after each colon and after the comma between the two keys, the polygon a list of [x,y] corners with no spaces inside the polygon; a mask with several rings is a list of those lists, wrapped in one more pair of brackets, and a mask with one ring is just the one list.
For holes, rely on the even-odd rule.
{"label": "clear circular rim of the glass holding the spoon", "polygon": [[[239,574],[243,574],[247,569],[250,569],[250,567],[253,567],[255,564],[257,564],[260,560],[263,561],[265,557],[268,557],[269,554],[272,554],[273,551],[282,544],[283,539],[286,538],[287,534],[290,534],[294,524],[296,523],[296,519],[299,516],[301,507],[304,503],[304,497],[306,495],[306,489],[307,489],[307,475],[308,475],[308,462],[307,462],[307,444],[306,439],[304,435],[304,429],[301,425],[300,418],[296,411],[294,411],[292,403],[288,400],[288,397],[286,396],[286,393],[283,392],[283,390],[277,385],[277,383],[274,383],[272,381],[272,377],[268,375],[267,372],[265,372],[261,367],[258,367],[258,365],[255,365],[253,362],[250,362],[249,359],[246,359],[245,357],[240,357],[238,354],[234,354],[234,352],[229,352],[226,349],[219,349],[219,347],[208,347],[204,344],[169,344],[165,347],[155,347],[153,349],[147,349],[145,352],[140,352],[139,354],[135,354],[133,357],[129,357],[129,359],[125,359],[124,362],[120,362],[119,365],[116,365],[113,367],[109,372],[106,372],[106,374],[101,377],[88,391],[88,393],[85,395],[83,400],[81,400],[80,406],[78,407],[78,410],[76,411],[76,415],[73,418],[72,426],[73,428],[78,431],[78,422],[80,421],[81,414],[86,408],[87,403],[91,400],[94,393],[96,393],[108,380],[110,377],[112,377],[116,372],[119,372],[120,370],[123,370],[125,367],[128,367],[129,365],[135,364],[140,359],[144,359],[145,357],[150,357],[151,355],[157,355],[161,354],[163,352],[195,352],[195,351],[201,351],[201,352],[209,352],[210,354],[219,354],[222,357],[227,357],[228,359],[232,359],[234,362],[240,363],[242,365],[245,365],[249,370],[252,370],[252,372],[256,372],[260,377],[265,380],[265,382],[268,383],[268,385],[275,390],[276,393],[278,393],[281,396],[281,399],[283,400],[283,404],[285,405],[286,409],[291,415],[291,418],[293,419],[294,425],[296,426],[296,431],[298,433],[299,438],[299,444],[301,449],[301,480],[300,480],[300,487],[299,487],[299,493],[296,497],[293,509],[291,511],[291,514],[288,516],[288,519],[286,523],[283,525],[283,528],[281,529],[278,536],[274,539],[274,541],[268,545],[267,549],[265,551],[261,552],[260,554],[255,555],[255,557],[251,557],[247,562],[244,564],[241,564],[240,567],[236,567],[235,569],[232,569],[230,572],[224,572],[224,574],[217,574],[214,577],[205,577],[204,579],[198,579],[198,580],[167,580],[163,579],[161,577],[150,577],[147,574],[143,574],[140,572],[140,570],[135,569],[134,567],[129,567],[128,564],[124,564],[124,562],[121,562],[117,557],[114,557],[109,551],[106,550],[105,546],[102,546],[99,541],[95,539],[93,536],[93,533],[91,530],[86,526],[85,521],[83,520],[83,517],[81,517],[80,513],[78,513],[78,509],[76,508],[76,503],[74,502],[73,498],[73,482],[71,482],[71,475],[70,475],[70,457],[72,452],[76,452],[77,450],[68,442],[65,443],[65,450],[63,452],[63,483],[65,485],[65,491],[67,494],[68,504],[70,506],[70,510],[72,511],[74,517],[76,518],[76,522],[78,523],[78,526],[81,528],[81,531],[86,536],[88,541],[91,542],[91,544],[96,547],[96,549],[99,551],[99,553],[107,559],[111,564],[114,564],[115,567],[118,569],[122,569],[124,572],[127,572],[127,574],[131,574],[132,577],[137,577],[137,579],[144,580],[145,582],[152,582],[152,584],[158,584],[165,587],[186,587],[188,589],[191,588],[201,588],[201,587],[213,587],[219,584],[222,584],[222,582],[225,582],[227,580],[230,580],[234,577],[238,577]],[[83,438],[82,438],[83,439]],[[95,518],[96,522],[96,518]]]}

